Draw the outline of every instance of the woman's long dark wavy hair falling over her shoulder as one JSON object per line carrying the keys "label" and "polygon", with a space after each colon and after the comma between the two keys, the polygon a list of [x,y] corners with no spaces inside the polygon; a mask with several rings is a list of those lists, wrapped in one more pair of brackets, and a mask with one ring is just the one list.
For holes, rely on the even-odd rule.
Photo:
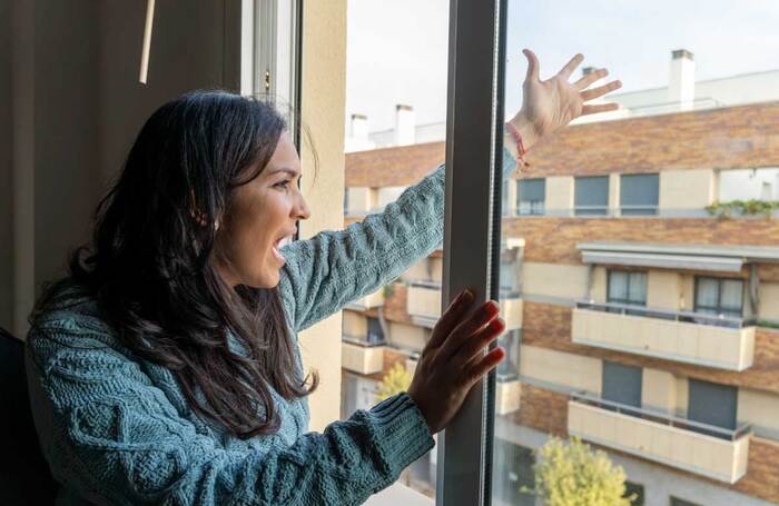
{"label": "woman's long dark wavy hair falling over her shoulder", "polygon": [[[318,377],[296,368],[277,289],[220,278],[215,222],[229,216],[231,192],[263,171],[285,129],[269,102],[224,91],[160,107],[97,208],[92,244],[70,255],[69,277],[47,290],[32,325],[62,284],[85,287],[120,343],[170,369],[205,419],[245,439],[278,430],[268,386],[300,398]],[[229,348],[229,334],[245,356]]]}

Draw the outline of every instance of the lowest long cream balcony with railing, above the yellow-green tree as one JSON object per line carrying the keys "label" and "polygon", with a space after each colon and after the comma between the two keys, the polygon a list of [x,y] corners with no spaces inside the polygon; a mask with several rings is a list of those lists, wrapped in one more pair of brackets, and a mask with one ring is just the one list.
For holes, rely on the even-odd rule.
{"label": "lowest long cream balcony with railing, above the yellow-green tree", "polygon": [[736,430],[573,394],[571,436],[728,484],[747,474],[751,428]]}

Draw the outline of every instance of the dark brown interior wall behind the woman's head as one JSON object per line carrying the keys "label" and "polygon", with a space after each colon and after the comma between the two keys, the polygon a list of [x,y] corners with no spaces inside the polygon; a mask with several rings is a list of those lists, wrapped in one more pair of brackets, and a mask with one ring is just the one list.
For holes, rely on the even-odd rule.
{"label": "dark brown interior wall behind the woman's head", "polygon": [[238,89],[240,0],[156,2],[147,85],[146,2],[2,0],[3,12],[0,325],[23,337],[146,118],[186,91]]}

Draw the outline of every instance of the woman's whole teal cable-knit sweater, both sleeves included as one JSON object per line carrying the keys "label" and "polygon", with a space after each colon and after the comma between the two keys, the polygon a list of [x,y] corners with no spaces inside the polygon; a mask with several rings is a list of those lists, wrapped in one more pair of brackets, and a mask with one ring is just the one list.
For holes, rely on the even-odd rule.
{"label": "woman's whole teal cable-knit sweater, both sleeves included", "polygon": [[[514,161],[504,153],[504,168]],[[297,333],[377,290],[443,240],[443,166],[378,215],[283,250],[285,315]],[[352,505],[387,487],[433,447],[407,394],[308,431],[306,399],[272,391],[280,429],[248,440],[211,428],[172,374],[135,356],[73,292],[27,347],[43,454],[58,504]],[[296,365],[303,370],[299,347]]]}

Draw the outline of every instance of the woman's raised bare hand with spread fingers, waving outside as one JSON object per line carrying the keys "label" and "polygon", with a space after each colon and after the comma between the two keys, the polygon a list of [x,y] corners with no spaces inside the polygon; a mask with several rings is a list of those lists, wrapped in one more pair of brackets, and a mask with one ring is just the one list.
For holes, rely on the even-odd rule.
{"label": "woman's raised bare hand with spread fingers, waving outside", "polygon": [[576,54],[554,77],[542,81],[539,77],[539,58],[530,49],[522,52],[527,58],[527,75],[522,85],[522,109],[510,122],[522,135],[525,149],[580,116],[618,109],[619,106],[613,102],[586,103],[622,86],[620,81],[611,81],[588,89],[590,85],[609,75],[607,69],[594,70],[571,83],[571,75],[584,60],[582,54]]}

